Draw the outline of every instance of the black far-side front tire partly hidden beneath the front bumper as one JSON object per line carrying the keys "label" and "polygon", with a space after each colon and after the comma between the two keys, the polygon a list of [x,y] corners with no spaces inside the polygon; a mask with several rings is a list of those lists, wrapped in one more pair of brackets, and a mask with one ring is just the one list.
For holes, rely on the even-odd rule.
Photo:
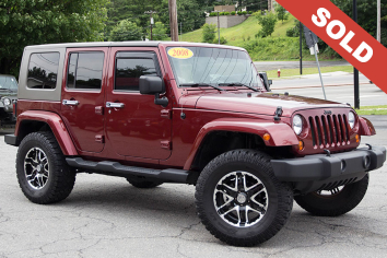
{"label": "black far-side front tire partly hidden beneath the front bumper", "polygon": [[307,212],[318,216],[338,216],[353,210],[368,188],[368,174],[363,179],[345,185],[338,194],[321,196],[310,192],[295,196],[294,200]]}

